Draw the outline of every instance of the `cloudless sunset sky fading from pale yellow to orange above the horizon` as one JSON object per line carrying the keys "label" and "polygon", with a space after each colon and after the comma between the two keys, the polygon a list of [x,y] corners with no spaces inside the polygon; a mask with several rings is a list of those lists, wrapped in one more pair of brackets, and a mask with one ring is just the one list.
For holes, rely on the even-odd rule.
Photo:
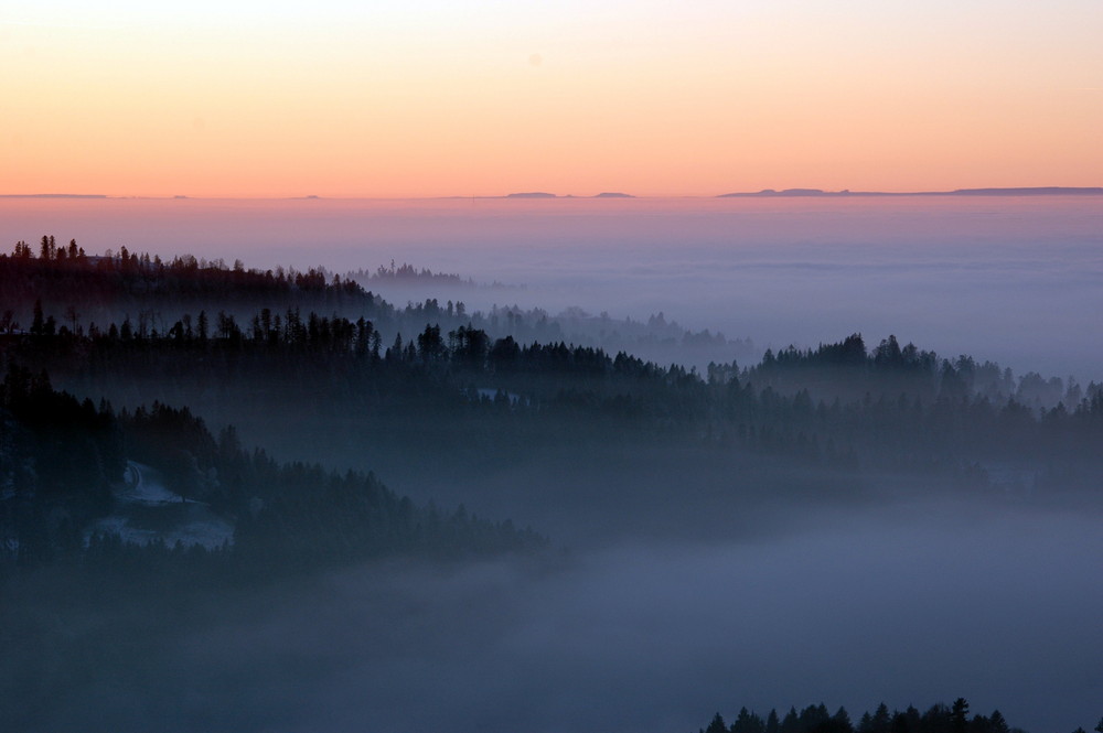
{"label": "cloudless sunset sky fading from pale yellow to orange above the horizon", "polygon": [[1101,185],[1101,37],[1100,0],[3,0],[0,193]]}

